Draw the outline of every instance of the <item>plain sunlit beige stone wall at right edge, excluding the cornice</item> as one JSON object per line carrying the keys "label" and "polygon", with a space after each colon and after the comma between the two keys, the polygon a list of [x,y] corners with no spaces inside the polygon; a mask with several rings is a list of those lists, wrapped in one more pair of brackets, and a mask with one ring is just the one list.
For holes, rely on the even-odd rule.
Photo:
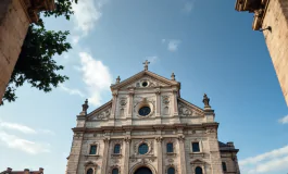
{"label": "plain sunlit beige stone wall at right edge, excluding the cornice", "polygon": [[262,28],[265,41],[288,104],[288,1],[270,0]]}

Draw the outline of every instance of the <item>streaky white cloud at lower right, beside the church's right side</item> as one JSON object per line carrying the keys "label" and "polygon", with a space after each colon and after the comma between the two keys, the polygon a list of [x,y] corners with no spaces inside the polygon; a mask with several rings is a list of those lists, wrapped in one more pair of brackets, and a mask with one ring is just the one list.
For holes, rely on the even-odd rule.
{"label": "streaky white cloud at lower right, beside the church's right side", "polygon": [[241,169],[249,174],[288,170],[287,163],[288,146],[239,161]]}

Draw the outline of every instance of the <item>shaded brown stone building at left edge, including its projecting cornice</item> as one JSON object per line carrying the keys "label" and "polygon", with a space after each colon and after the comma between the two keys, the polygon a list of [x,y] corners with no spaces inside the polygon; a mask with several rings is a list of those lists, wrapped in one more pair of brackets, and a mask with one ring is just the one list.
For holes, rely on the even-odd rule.
{"label": "shaded brown stone building at left edge, including its projecting cornice", "polygon": [[29,24],[38,21],[39,11],[53,9],[54,0],[0,0],[0,101],[17,62]]}

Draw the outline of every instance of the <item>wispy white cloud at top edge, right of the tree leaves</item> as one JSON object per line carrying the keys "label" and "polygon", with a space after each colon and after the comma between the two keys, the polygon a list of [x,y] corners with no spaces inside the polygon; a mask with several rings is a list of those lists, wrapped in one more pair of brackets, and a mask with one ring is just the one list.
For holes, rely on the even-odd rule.
{"label": "wispy white cloud at top edge, right of the tree leaves", "polygon": [[102,16],[101,8],[105,0],[79,0],[77,4],[73,3],[76,28],[84,32],[84,35],[87,35]]}

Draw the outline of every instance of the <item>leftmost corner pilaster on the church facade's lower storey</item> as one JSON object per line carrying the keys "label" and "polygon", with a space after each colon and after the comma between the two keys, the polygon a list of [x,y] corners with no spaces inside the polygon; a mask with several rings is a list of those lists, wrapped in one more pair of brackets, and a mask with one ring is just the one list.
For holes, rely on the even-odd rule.
{"label": "leftmost corner pilaster on the church facade's lower storey", "polygon": [[71,152],[67,158],[68,161],[67,161],[66,174],[77,174],[79,160],[80,160],[83,137],[84,134],[79,133],[74,134]]}

